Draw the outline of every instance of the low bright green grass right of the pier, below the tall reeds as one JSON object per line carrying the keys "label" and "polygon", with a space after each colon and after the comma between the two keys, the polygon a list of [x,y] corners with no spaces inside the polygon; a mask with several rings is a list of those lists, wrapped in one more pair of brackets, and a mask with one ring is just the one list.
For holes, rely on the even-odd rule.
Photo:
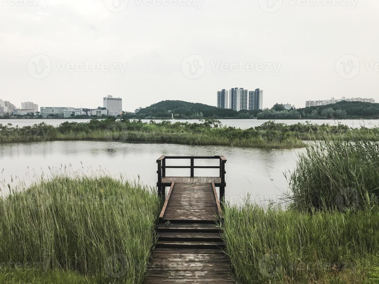
{"label": "low bright green grass right of the pier, below the tall reeds", "polygon": [[357,212],[224,210],[240,283],[378,283],[379,208]]}

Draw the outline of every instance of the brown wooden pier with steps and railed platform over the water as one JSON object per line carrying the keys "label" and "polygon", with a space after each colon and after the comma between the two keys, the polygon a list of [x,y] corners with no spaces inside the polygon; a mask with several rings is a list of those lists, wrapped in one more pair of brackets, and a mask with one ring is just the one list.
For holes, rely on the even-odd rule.
{"label": "brown wooden pier with steps and railed platform over the water", "polygon": [[[168,159],[189,159],[189,166],[166,165]],[[195,166],[195,159],[215,159],[218,166]],[[166,197],[158,225],[158,241],[145,283],[235,283],[222,250],[220,199],[225,194],[224,156],[161,156],[158,194]],[[190,169],[190,176],[166,176],[166,169]],[[219,169],[218,177],[194,176],[194,169]]]}

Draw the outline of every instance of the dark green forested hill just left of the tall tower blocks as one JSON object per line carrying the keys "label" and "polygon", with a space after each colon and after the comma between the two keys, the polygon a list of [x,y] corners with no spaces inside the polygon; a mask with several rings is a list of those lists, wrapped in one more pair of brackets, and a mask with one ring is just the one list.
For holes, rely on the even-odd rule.
{"label": "dark green forested hill just left of the tall tower blocks", "polygon": [[171,117],[193,118],[201,117],[235,117],[236,111],[232,109],[216,108],[202,103],[189,103],[187,101],[160,101],[138,112],[139,117]]}

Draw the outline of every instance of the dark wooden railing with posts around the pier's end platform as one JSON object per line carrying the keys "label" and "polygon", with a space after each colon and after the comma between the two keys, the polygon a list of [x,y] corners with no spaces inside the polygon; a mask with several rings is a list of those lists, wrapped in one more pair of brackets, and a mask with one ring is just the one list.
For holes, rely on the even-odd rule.
{"label": "dark wooden railing with posts around the pier's end platform", "polygon": [[[166,165],[167,159],[189,159],[190,165],[183,165],[183,166],[168,166]],[[218,166],[195,166],[194,160],[195,159],[218,159],[219,165]],[[215,183],[216,187],[220,188],[220,201],[224,201],[225,197],[225,163],[227,159],[224,156],[161,156],[159,159],[157,159],[158,164],[158,195],[165,197],[165,187],[171,186],[171,182],[169,183],[163,183],[162,178],[166,177],[166,169],[190,169],[190,177],[194,177],[194,169],[219,169],[219,177],[221,178],[220,183]]]}

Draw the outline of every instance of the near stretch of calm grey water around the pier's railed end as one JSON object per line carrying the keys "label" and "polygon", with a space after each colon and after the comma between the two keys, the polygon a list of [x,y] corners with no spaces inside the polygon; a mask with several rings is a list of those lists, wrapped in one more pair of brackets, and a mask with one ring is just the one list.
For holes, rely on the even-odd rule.
{"label": "near stretch of calm grey water around the pier's railed end", "polygon": [[[68,174],[110,173],[138,179],[149,186],[157,182],[156,160],[161,155],[214,156],[223,155],[226,163],[226,200],[243,203],[248,194],[251,201],[268,204],[280,201],[288,183],[283,172],[292,170],[297,155],[304,149],[267,150],[225,146],[189,146],[177,144],[131,144],[94,141],[54,141],[0,144],[2,194],[24,181],[30,184],[44,173]],[[189,160],[170,160],[167,165],[189,165]],[[195,160],[195,165],[218,165],[218,161]],[[51,170],[50,170],[50,169]],[[195,176],[218,176],[218,170],[195,169]],[[188,176],[189,169],[167,169],[167,176]]]}

